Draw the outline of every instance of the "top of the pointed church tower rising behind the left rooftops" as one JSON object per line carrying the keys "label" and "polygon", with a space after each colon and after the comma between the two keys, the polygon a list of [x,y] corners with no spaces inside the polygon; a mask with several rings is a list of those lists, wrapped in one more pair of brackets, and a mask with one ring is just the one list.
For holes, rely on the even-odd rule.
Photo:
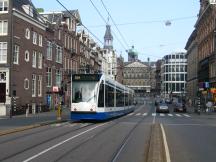
{"label": "top of the pointed church tower rising behind the left rooftops", "polygon": [[113,50],[113,36],[111,33],[111,26],[106,25],[106,32],[104,35],[104,49]]}

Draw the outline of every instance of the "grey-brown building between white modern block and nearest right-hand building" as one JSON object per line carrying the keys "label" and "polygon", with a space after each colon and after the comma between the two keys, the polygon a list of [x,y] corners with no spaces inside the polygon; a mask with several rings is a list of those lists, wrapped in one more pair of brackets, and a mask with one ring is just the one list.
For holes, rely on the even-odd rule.
{"label": "grey-brown building between white modern block and nearest right-hand building", "polygon": [[187,50],[187,84],[186,84],[186,92],[187,98],[195,103],[195,99],[197,98],[198,92],[198,50],[197,50],[197,41],[196,41],[197,33],[194,30],[185,46]]}

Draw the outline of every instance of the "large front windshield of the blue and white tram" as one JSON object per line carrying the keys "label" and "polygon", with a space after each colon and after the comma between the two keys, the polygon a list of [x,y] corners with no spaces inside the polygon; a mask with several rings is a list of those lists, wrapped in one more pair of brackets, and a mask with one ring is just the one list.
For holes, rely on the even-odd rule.
{"label": "large front windshield of the blue and white tram", "polygon": [[73,103],[96,102],[96,86],[98,82],[73,82]]}

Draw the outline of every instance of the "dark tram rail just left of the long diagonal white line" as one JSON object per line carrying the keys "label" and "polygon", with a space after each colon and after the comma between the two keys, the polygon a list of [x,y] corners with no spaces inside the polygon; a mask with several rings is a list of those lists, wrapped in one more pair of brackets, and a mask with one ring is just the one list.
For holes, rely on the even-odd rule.
{"label": "dark tram rail just left of the long diagonal white line", "polygon": [[[20,151],[18,151],[18,152],[16,152],[16,153],[13,153],[13,154],[10,154],[10,155],[8,155],[8,156],[6,156],[6,157],[3,157],[3,158],[0,159],[0,161],[4,161],[4,160],[10,159],[10,158],[13,158],[13,157],[15,157],[15,156],[17,156],[17,155],[19,155],[19,154],[24,153],[24,152],[27,151],[27,150],[33,149],[33,148],[35,148],[35,147],[37,147],[37,146],[40,146],[41,144],[48,143],[48,142],[50,142],[50,141],[52,141],[52,140],[55,140],[55,139],[60,138],[60,137],[62,137],[62,136],[65,136],[65,135],[67,135],[67,134],[69,134],[69,133],[72,133],[72,132],[75,132],[75,131],[79,131],[79,130],[81,130],[81,129],[90,127],[90,126],[92,126],[92,125],[95,125],[95,123],[90,123],[90,124],[88,124],[88,125],[84,125],[84,126],[82,126],[82,127],[76,128],[76,129],[74,129],[74,130],[66,131],[66,132],[61,133],[61,134],[59,134],[59,135],[57,135],[57,136],[54,136],[54,137],[52,137],[52,138],[49,138],[49,139],[46,139],[46,140],[42,140],[42,141],[40,141],[39,143],[36,143],[36,144],[34,144],[34,145],[30,146],[30,147],[26,147],[25,149],[22,149],[22,150],[20,150]],[[41,132],[41,131],[40,131],[40,132]],[[39,132],[38,132],[38,133],[39,133]],[[25,137],[26,137],[26,136],[24,136],[24,137],[22,137],[22,138],[25,138]]]}

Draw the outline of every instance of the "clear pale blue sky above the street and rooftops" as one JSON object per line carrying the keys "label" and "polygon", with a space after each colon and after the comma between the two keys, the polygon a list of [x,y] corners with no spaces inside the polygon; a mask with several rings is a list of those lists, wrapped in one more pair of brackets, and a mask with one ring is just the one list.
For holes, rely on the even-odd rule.
{"label": "clear pale blue sky above the street and rooftops", "polygon": [[[68,10],[79,10],[82,23],[103,47],[106,23],[111,25],[113,46],[127,61],[131,46],[141,61],[156,61],[172,52],[185,51],[185,45],[199,13],[199,0],[59,0]],[[44,11],[64,11],[56,0],[32,0]],[[103,2],[103,3],[102,3]],[[51,3],[51,4],[50,4]],[[105,5],[106,9],[104,8]],[[96,11],[95,7],[102,17]],[[114,22],[112,21],[114,20]],[[166,22],[171,22],[167,26]],[[116,26],[117,28],[116,28]]]}

